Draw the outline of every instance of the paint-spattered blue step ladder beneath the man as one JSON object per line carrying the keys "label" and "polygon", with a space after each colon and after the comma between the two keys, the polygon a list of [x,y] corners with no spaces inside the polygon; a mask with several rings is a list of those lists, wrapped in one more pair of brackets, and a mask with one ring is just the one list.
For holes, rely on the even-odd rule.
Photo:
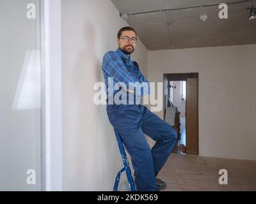
{"label": "paint-spattered blue step ladder beneath the man", "polygon": [[127,180],[129,182],[131,191],[136,191],[136,186],[134,185],[134,181],[132,179],[131,168],[129,166],[127,156],[125,154],[123,141],[122,141],[118,131],[116,131],[116,130],[115,130],[115,135],[116,135],[116,141],[118,143],[118,147],[119,147],[119,150],[120,150],[121,158],[122,158],[122,161],[123,161],[123,164],[124,164],[124,168],[122,168],[122,170],[118,171],[118,173],[116,175],[116,180],[115,180],[115,185],[113,187],[113,191],[118,190],[118,184],[119,184],[119,181],[120,181],[120,176],[124,171],[126,173]]}

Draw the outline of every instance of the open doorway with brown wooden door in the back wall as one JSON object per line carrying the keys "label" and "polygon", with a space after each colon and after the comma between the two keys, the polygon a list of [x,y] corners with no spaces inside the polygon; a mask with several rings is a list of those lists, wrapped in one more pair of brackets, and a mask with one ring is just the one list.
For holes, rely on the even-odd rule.
{"label": "open doorway with brown wooden door in the back wall", "polygon": [[173,153],[198,155],[198,73],[164,74],[163,107],[177,132]]}

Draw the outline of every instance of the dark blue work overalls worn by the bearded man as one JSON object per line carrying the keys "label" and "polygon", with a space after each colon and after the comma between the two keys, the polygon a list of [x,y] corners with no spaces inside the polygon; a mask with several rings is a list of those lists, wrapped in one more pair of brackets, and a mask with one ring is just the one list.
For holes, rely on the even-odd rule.
{"label": "dark blue work overalls worn by the bearded man", "polygon": [[[127,70],[131,64],[124,61]],[[138,64],[133,64],[137,66]],[[132,71],[131,71],[132,73]],[[136,73],[132,73],[136,76]],[[132,94],[127,96],[132,97]],[[134,99],[135,100],[135,99]],[[107,99],[108,104],[108,99]],[[107,105],[113,128],[120,133],[125,149],[131,156],[138,191],[157,191],[156,176],[177,142],[175,130],[143,105]],[[144,133],[156,141],[150,149]]]}

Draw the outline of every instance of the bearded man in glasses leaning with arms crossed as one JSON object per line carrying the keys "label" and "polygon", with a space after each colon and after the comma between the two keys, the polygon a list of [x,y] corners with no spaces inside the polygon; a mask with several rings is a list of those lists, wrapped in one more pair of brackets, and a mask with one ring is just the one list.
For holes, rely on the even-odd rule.
{"label": "bearded man in glasses leaning with arms crossed", "polygon": [[[137,62],[131,61],[130,55],[134,52],[136,41],[136,31],[132,27],[123,27],[117,35],[118,49],[104,55],[102,71],[108,95],[107,113],[131,156],[137,190],[159,191],[165,189],[166,184],[156,176],[172,152],[177,133],[145,106],[136,103],[149,92],[147,88],[134,91],[129,87],[129,82],[148,85]],[[109,90],[109,80],[113,80],[113,84],[122,82],[120,90]],[[125,92],[125,96],[118,94],[120,91]],[[121,96],[121,104],[115,103],[116,95]],[[134,103],[129,103],[131,101]],[[143,133],[156,141],[151,150]]]}

